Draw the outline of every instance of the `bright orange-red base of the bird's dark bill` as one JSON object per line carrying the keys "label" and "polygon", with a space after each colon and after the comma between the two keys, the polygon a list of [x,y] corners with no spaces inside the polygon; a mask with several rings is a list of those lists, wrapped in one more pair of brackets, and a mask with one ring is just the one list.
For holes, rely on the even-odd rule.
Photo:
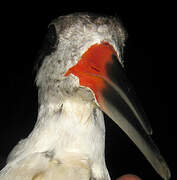
{"label": "bright orange-red base of the bird's dark bill", "polygon": [[105,88],[103,78],[107,77],[106,64],[113,63],[113,55],[117,56],[117,53],[109,43],[94,44],[82,55],[79,62],[66,72],[65,76],[70,73],[77,76],[80,85],[89,87],[99,102],[100,92]]}

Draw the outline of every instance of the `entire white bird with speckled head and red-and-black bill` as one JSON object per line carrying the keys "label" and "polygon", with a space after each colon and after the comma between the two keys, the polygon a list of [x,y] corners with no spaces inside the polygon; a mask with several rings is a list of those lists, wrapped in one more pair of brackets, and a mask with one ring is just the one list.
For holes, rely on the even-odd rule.
{"label": "entire white bird with speckled head and red-and-black bill", "polygon": [[[0,180],[110,180],[104,157],[102,111],[125,131],[155,170],[169,179],[168,166],[149,136],[151,128],[131,100],[128,84],[124,84],[121,52],[126,33],[121,23],[112,17],[76,13],[59,17],[49,29],[48,44],[44,46],[47,52],[41,56],[36,77],[38,119],[30,135],[10,153]],[[88,63],[85,70],[80,68],[66,76],[85,52],[91,52],[92,57],[95,44],[97,50],[102,48],[99,52],[106,49],[112,53],[109,58],[100,56],[98,64],[90,58],[94,66]],[[119,87],[112,77],[117,71]],[[88,81],[85,86],[84,78],[96,83],[90,85],[92,81]]]}

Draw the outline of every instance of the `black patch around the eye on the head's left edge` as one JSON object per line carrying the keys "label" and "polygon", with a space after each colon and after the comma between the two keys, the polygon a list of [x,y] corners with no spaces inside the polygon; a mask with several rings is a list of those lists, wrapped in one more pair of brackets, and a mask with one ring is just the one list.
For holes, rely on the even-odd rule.
{"label": "black patch around the eye on the head's left edge", "polygon": [[44,37],[42,47],[38,53],[37,63],[35,65],[36,71],[42,65],[45,56],[49,56],[52,52],[54,52],[57,48],[57,45],[58,45],[57,32],[55,26],[51,24],[48,28],[46,36]]}

